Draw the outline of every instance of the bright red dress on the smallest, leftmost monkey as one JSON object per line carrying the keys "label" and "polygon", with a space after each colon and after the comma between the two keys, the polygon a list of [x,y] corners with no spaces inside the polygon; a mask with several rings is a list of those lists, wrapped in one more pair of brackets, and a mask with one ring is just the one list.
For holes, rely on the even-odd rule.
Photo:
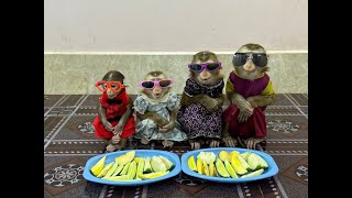
{"label": "bright red dress on the smallest, leftmost monkey", "polygon": [[[107,119],[112,124],[112,127],[116,127],[119,123],[120,118],[124,112],[128,110],[128,105],[130,102],[129,96],[123,90],[118,97],[113,99],[109,99],[107,91],[105,91],[100,97],[100,103],[101,106],[107,110]],[[96,129],[95,136],[98,139],[111,139],[113,136],[113,133],[110,131],[107,131],[102,123],[100,122],[99,117],[95,119],[92,122],[92,125]],[[131,136],[135,132],[135,122],[133,116],[129,118],[127,123],[123,127],[123,132],[121,134],[121,139],[125,139],[128,136]]]}

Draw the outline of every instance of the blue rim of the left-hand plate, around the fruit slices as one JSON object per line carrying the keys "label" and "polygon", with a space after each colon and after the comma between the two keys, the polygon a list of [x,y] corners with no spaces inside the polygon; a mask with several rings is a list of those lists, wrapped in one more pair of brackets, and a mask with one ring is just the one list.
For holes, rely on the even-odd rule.
{"label": "blue rim of the left-hand plate, around the fruit slices", "polygon": [[[117,156],[123,155],[127,152],[135,151],[135,157],[152,157],[152,156],[164,156],[167,160],[169,160],[175,166],[174,168],[167,174],[162,177],[153,178],[153,179],[146,179],[146,180],[132,180],[132,182],[116,182],[116,180],[106,180],[98,178],[94,176],[90,172],[90,168],[98,163],[98,161],[107,156],[106,165],[113,162]],[[174,177],[175,175],[180,173],[180,161],[179,157],[170,152],[166,151],[160,151],[160,150],[125,150],[125,151],[119,151],[119,152],[112,152],[107,154],[100,154],[97,156],[94,156],[89,158],[86,163],[85,170],[84,170],[84,177],[87,180],[94,182],[94,183],[100,183],[106,185],[114,185],[114,186],[140,186],[140,185],[147,185],[151,183],[156,183],[160,180],[164,180],[170,177]]]}

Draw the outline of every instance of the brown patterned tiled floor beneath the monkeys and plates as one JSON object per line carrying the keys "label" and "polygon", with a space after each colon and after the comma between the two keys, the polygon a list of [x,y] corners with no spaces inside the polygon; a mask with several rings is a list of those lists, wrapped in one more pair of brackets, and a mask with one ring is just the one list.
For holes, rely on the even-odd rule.
{"label": "brown patterned tiled floor beneath the monkeys and plates", "polygon": [[[216,184],[179,174],[138,187],[106,186],[82,178],[86,161],[103,151],[91,127],[98,97],[44,96],[44,197],[308,197],[308,95],[279,95],[266,110],[265,152],[279,167],[276,176],[248,184]],[[129,148],[145,146],[133,141]],[[183,143],[168,151],[182,155],[188,150]]]}

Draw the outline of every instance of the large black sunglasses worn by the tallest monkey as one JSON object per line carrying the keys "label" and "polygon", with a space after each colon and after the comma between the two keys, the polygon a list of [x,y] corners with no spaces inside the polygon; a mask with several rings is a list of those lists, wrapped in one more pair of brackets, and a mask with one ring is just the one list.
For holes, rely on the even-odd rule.
{"label": "large black sunglasses worn by the tallest monkey", "polygon": [[235,53],[232,64],[234,66],[242,66],[249,58],[258,67],[265,67],[267,65],[267,55],[264,53]]}

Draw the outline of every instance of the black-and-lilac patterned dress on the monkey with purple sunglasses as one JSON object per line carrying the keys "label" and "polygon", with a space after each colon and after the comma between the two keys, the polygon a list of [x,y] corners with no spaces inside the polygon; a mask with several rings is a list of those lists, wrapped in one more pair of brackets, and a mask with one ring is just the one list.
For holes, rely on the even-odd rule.
{"label": "black-and-lilac patterned dress on the monkey with purple sunglasses", "polygon": [[[222,95],[224,87],[223,80],[219,80],[213,85],[198,85],[193,78],[188,78],[184,92],[194,97],[196,95],[208,95],[212,98],[219,98]],[[209,112],[200,103],[191,103],[187,107],[182,107],[177,113],[177,121],[182,129],[187,133],[188,139],[195,138],[221,138],[222,109]]]}

